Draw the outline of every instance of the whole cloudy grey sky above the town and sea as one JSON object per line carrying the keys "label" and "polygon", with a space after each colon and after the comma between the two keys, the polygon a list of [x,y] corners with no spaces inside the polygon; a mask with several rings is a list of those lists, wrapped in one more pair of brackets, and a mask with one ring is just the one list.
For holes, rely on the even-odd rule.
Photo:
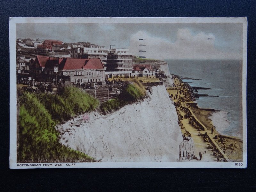
{"label": "whole cloudy grey sky above the town and sea", "polygon": [[109,48],[129,48],[139,56],[145,39],[146,56],[152,59],[242,59],[242,23],[147,24],[16,24],[16,38],[91,42]]}

